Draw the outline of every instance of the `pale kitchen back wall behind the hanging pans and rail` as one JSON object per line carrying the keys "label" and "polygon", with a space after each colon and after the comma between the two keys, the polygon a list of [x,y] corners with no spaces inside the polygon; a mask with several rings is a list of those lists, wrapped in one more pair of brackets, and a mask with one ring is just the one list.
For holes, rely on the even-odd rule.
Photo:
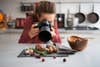
{"label": "pale kitchen back wall behind the hanging pans and rail", "polygon": [[[0,9],[7,15],[12,15],[12,18],[25,17],[25,13],[20,11],[20,2],[37,2],[40,0],[0,0]],[[49,0],[53,2],[100,2],[100,0]],[[91,12],[92,3],[81,3],[81,12],[88,14]],[[70,13],[77,13],[79,3],[63,3],[56,4],[57,13],[65,13],[67,15],[67,10]],[[95,3],[95,12],[100,15],[100,3]],[[96,24],[89,24],[91,26],[100,27],[100,22]]]}

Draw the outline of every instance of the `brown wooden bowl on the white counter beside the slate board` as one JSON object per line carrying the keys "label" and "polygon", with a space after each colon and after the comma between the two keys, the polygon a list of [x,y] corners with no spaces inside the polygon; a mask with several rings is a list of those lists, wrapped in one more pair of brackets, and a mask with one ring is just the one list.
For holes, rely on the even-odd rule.
{"label": "brown wooden bowl on the white counter beside the slate board", "polygon": [[82,51],[87,47],[88,39],[79,36],[68,37],[68,43],[70,47],[77,51]]}

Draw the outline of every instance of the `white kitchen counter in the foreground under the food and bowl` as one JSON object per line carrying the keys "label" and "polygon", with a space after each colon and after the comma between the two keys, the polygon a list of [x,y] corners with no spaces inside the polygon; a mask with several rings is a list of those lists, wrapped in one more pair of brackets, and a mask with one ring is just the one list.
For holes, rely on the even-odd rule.
{"label": "white kitchen counter in the foreground under the food and bowl", "polygon": [[[61,31],[60,31],[61,32]],[[86,31],[84,31],[86,32]],[[63,57],[53,59],[46,57],[45,62],[33,57],[18,58],[19,53],[33,44],[18,44],[20,32],[0,33],[0,67],[99,67],[100,66],[100,32],[87,31],[61,32],[62,44],[69,47],[66,39],[70,35],[79,35],[89,39],[88,46],[82,52],[70,55],[67,62],[62,62]]]}

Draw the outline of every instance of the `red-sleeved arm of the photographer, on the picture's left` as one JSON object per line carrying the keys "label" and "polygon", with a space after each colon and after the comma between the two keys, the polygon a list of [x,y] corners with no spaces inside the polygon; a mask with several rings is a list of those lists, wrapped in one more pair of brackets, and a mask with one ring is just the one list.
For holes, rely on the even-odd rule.
{"label": "red-sleeved arm of the photographer, on the picture's left", "polygon": [[24,25],[24,31],[22,32],[20,36],[19,43],[32,43],[33,42],[33,38],[29,36],[29,31],[31,29],[32,24],[33,24],[32,18],[27,17],[25,25]]}

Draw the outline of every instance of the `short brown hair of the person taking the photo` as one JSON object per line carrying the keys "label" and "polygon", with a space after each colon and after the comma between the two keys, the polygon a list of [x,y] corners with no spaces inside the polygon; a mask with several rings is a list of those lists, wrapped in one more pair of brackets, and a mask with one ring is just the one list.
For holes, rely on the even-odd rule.
{"label": "short brown hair of the person taking the photo", "polygon": [[35,12],[39,16],[41,16],[42,13],[55,13],[55,4],[50,1],[40,1]]}

